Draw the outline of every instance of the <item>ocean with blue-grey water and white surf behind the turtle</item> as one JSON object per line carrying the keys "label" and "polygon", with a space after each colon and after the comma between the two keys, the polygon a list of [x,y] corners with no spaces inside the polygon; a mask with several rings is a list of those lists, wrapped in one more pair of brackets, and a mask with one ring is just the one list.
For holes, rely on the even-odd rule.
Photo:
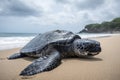
{"label": "ocean with blue-grey water and white surf behind the turtle", "polygon": [[[0,50],[19,48],[26,45],[35,33],[0,33]],[[78,34],[82,38],[104,37],[112,34]]]}

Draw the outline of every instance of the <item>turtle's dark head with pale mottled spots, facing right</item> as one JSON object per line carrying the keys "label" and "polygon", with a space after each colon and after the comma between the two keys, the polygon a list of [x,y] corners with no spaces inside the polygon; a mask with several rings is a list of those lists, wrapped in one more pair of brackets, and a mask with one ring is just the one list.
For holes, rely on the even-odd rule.
{"label": "turtle's dark head with pale mottled spots, facing right", "polygon": [[101,52],[100,42],[90,39],[77,39],[73,42],[77,55],[94,56]]}

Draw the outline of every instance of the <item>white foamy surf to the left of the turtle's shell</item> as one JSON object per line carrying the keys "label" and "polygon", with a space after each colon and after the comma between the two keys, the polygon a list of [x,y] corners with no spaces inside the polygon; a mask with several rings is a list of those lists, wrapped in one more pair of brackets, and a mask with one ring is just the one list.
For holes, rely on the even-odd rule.
{"label": "white foamy surf to the left of the turtle's shell", "polygon": [[33,37],[0,37],[0,50],[23,47]]}

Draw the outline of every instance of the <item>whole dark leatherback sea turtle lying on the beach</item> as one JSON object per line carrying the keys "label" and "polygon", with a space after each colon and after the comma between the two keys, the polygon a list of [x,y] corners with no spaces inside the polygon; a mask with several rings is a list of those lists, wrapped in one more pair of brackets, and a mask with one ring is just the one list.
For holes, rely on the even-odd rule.
{"label": "whole dark leatherback sea turtle lying on the beach", "polygon": [[20,73],[22,76],[30,76],[56,68],[65,57],[94,56],[99,52],[101,47],[98,41],[81,39],[79,35],[66,30],[54,30],[37,35],[19,53],[8,59],[37,57]]}

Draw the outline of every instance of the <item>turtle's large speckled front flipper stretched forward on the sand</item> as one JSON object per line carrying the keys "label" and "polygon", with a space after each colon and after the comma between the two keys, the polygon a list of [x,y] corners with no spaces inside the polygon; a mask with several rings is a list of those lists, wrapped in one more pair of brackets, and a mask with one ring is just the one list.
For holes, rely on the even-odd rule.
{"label": "turtle's large speckled front flipper stretched forward on the sand", "polygon": [[50,71],[61,63],[61,56],[58,51],[52,51],[49,55],[40,57],[25,68],[20,75],[30,76],[44,71]]}

